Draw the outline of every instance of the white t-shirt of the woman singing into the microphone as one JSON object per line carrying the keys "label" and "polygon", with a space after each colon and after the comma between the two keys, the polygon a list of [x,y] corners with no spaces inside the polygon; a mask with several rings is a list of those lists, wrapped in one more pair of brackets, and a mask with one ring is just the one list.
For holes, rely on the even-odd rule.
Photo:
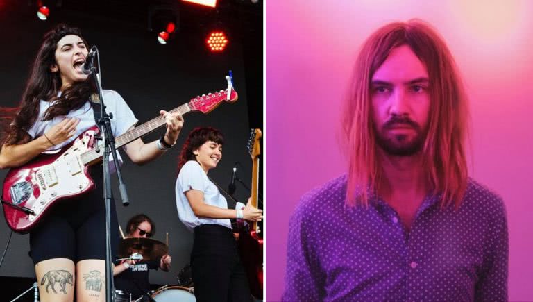
{"label": "white t-shirt of the woman singing into the microphone", "polygon": [[[135,118],[135,115],[133,115],[133,112],[128,107],[128,104],[126,104],[126,101],[122,99],[120,94],[118,94],[114,90],[103,90],[102,94],[103,101],[106,106],[105,110],[108,113],[113,114],[113,118],[111,119],[111,128],[115,137],[126,133],[126,131],[131,126],[137,124],[138,120]],[[55,103],[55,101],[40,101],[39,117],[37,117],[37,119],[35,120],[35,124],[33,124],[33,126],[31,126],[31,128],[28,130],[28,134],[31,135],[32,138],[42,136],[44,133],[46,133],[46,131],[49,131],[51,127],[56,124],[59,124],[63,119],[66,119],[67,117],[76,117],[77,119],[80,119],[80,122],[78,126],[76,126],[76,134],[74,136],[69,138],[69,140],[62,142],[61,144],[51,146],[49,149],[46,149],[46,151],[54,151],[61,149],[63,146],[66,146],[67,144],[75,140],[78,135],[84,133],[88,128],[91,128],[92,126],[96,125],[96,122],[94,121],[94,112],[89,101],[87,101],[85,105],[81,106],[81,108],[71,110],[67,116],[61,115],[58,117],[54,117],[49,121],[43,121],[42,118],[44,117],[44,112],[46,112],[46,110],[51,105],[53,105],[53,103]],[[120,154],[119,162],[122,162]],[[110,165],[110,167],[114,167],[114,165]]]}

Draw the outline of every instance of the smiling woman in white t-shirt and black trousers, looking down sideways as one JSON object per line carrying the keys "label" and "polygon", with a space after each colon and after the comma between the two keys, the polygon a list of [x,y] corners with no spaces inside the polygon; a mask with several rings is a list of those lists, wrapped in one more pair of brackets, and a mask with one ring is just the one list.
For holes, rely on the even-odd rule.
{"label": "smiling woman in white t-shirt and black trousers, looking down sideways", "polygon": [[191,253],[194,295],[198,301],[250,301],[250,289],[230,219],[260,221],[262,211],[250,202],[228,209],[228,201],[208,177],[222,158],[222,133],[195,128],[183,144],[176,179],[176,207],[185,226],[194,232]]}

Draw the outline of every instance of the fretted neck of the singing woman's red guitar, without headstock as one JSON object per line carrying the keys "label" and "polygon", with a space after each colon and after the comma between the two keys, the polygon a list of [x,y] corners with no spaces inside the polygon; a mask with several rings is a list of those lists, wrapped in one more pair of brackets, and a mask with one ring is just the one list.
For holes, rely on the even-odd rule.
{"label": "fretted neck of the singing woman's red guitar, without headstock", "polygon": [[[182,106],[179,106],[178,108],[170,110],[169,112],[179,112],[180,115],[185,115],[185,113],[190,112],[192,110],[193,109],[191,108],[190,103],[185,103]],[[123,135],[115,137],[115,147],[119,149],[121,146],[129,144],[130,142],[137,140],[137,138],[139,137],[143,137],[144,135],[152,133],[158,128],[164,126],[165,124],[167,124],[167,122],[162,116],[158,116],[155,117],[155,119],[146,121],[146,123],[131,129]],[[96,148],[94,148],[89,151],[86,151],[85,153],[82,153],[80,158],[83,162],[83,165],[93,165],[94,163],[99,162],[102,156],[103,152],[100,151],[99,153],[96,153]]]}

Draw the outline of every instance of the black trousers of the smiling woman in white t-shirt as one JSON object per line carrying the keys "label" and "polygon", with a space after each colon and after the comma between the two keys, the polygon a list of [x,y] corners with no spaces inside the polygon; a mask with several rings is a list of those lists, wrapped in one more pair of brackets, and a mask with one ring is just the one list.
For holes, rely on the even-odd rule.
{"label": "black trousers of the smiling woman in white t-shirt", "polygon": [[229,228],[218,224],[194,228],[191,269],[196,301],[251,301],[246,272]]}

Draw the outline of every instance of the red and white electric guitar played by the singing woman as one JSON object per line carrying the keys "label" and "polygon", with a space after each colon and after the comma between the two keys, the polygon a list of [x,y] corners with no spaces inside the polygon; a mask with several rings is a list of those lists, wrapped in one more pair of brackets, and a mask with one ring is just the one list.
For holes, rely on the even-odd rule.
{"label": "red and white electric guitar played by the singing woman", "polygon": [[[181,115],[190,111],[208,113],[223,101],[236,101],[237,92],[233,90],[230,78],[226,79],[227,90],[195,97],[169,112],[180,112]],[[115,137],[115,145],[118,149],[165,124],[164,117],[156,117]],[[22,167],[8,171],[3,180],[1,202],[3,214],[12,230],[27,233],[56,201],[94,188],[89,166],[100,162],[103,156],[103,147],[96,152],[96,142],[102,144],[95,138],[98,133],[99,128],[93,126],[58,152],[42,153]]]}

